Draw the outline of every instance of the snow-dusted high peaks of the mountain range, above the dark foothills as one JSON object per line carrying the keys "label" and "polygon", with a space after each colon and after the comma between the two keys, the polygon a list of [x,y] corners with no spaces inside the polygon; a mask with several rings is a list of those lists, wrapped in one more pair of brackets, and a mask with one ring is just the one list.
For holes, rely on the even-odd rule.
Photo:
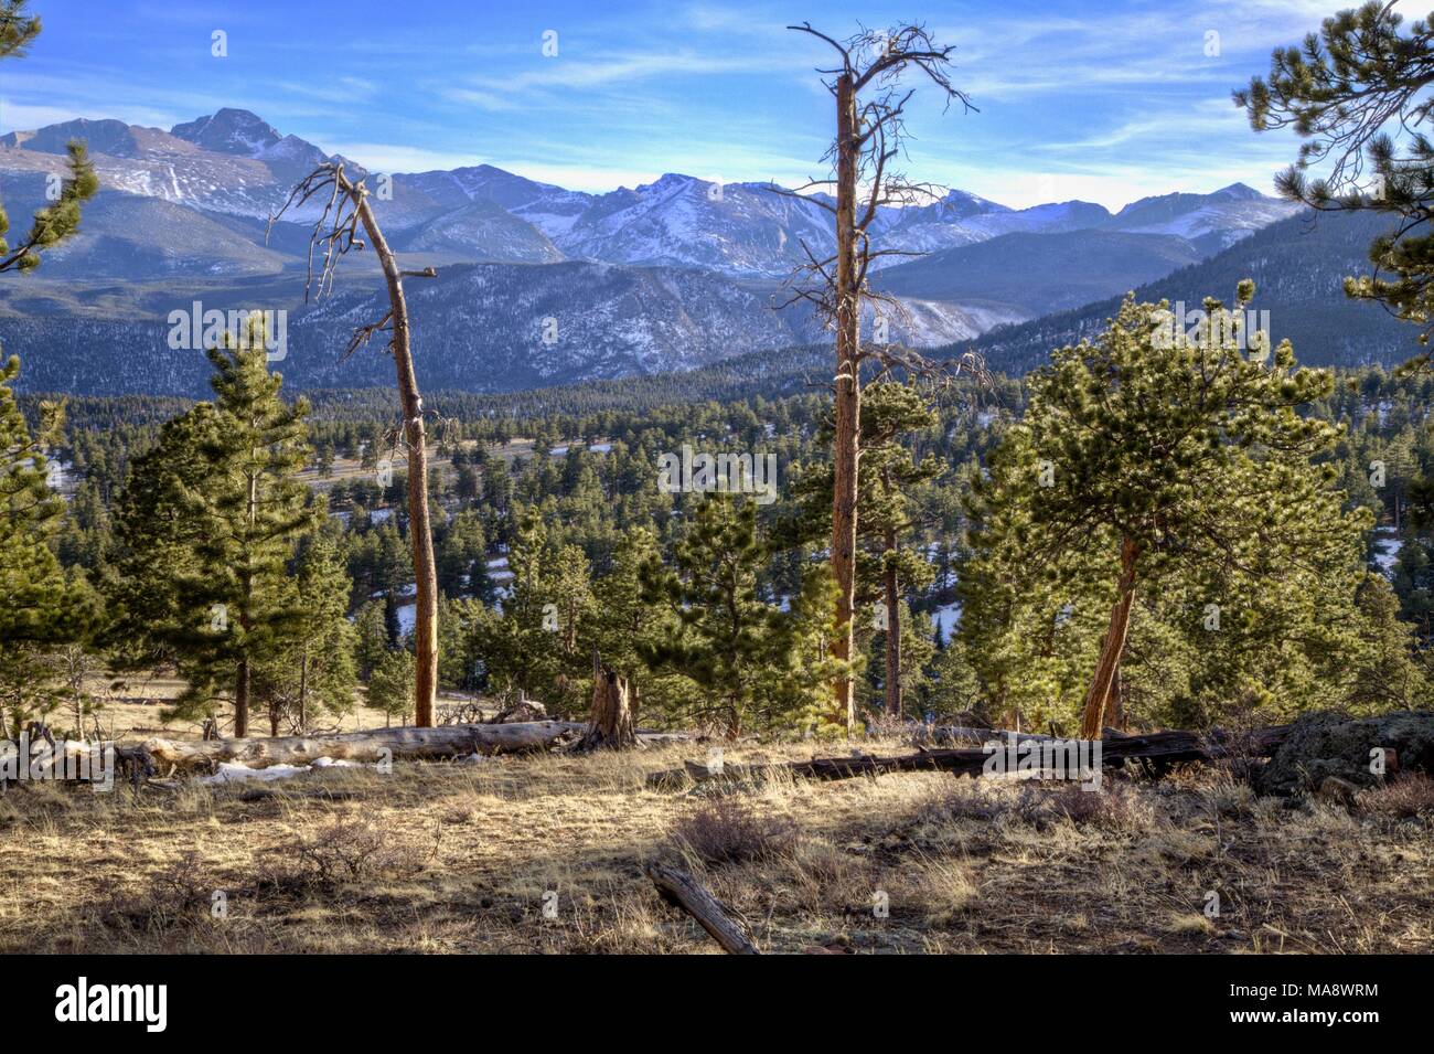
{"label": "snow-dusted high peaks of the mountain range, above the dark foothills", "polygon": [[[267,219],[305,172],[337,156],[280,135],[239,109],[221,109],[168,132],[119,120],[70,120],[0,138],[0,174],[9,176],[7,188],[11,181],[19,184],[7,194],[37,198],[43,175],[56,171],[70,139],[89,143],[103,186],[118,195],[108,204],[115,222],[90,231],[65,252],[73,277],[82,270],[105,278],[152,277],[145,264],[153,252],[165,252],[175,265],[192,265],[188,248],[196,235],[215,235],[215,215]],[[346,165],[358,176],[374,175],[351,161]],[[394,248],[449,261],[589,260],[782,278],[803,261],[803,244],[816,254],[832,247],[830,215],[816,201],[776,194],[763,184],[714,184],[668,174],[635,189],[584,194],[490,165],[389,175],[391,194],[376,194],[374,208]],[[370,188],[379,189],[373,178]],[[153,201],[184,212],[163,211]],[[882,209],[873,235],[892,248],[932,251],[1012,232],[1126,231],[1179,237],[1205,255],[1292,209],[1242,184],[1209,195],[1146,198],[1114,215],[1081,201],[1011,209],[951,191],[929,205]],[[129,218],[158,227],[136,225],[126,232],[122,224]],[[186,221],[194,229],[185,229]],[[211,272],[280,270],[282,248],[277,255],[272,250],[255,254],[234,244],[252,247],[254,234],[231,228],[231,238],[214,245]],[[115,244],[126,235],[139,247],[128,257]]]}

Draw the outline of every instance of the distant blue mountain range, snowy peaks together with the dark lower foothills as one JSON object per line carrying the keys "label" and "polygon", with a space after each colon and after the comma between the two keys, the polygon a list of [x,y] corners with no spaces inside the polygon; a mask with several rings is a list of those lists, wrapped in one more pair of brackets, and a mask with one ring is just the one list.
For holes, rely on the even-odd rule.
{"label": "distant blue mountain range, snowy peaks together with the dark lower foothills", "polygon": [[[288,308],[280,369],[294,384],[387,381],[374,353],[338,363],[350,328],[381,314],[373,260],[346,261],[338,294],[304,305],[303,221],[314,212],[267,229],[294,184],[337,155],[239,109],[168,132],[72,120],[0,136],[11,217],[44,204],[46,176],[62,171],[72,138],[89,143],[102,182],[82,232],[34,274],[0,283],[0,340],[24,356],[24,387],[202,394],[202,356],[162,338],[163,318],[194,300]],[[346,165],[369,179],[404,264],[439,268],[437,280],[409,284],[427,383],[500,391],[827,338],[807,305],[777,310],[802,247],[832,250],[819,199],[677,174],[585,194],[490,165],[420,174]],[[1296,211],[1243,184],[1144,198],[1114,214],[1080,201],[1012,209],[951,191],[879,214],[873,238],[883,248],[928,255],[880,270],[875,284],[902,301],[895,340],[942,347],[987,334],[984,347],[1024,361],[1020,334],[1048,331],[1047,317],[1238,258],[1256,238],[1295,229]],[[1298,285],[1311,262],[1296,252],[1283,265]],[[555,340],[545,340],[546,320],[556,320]],[[105,350],[86,361],[80,346]]]}

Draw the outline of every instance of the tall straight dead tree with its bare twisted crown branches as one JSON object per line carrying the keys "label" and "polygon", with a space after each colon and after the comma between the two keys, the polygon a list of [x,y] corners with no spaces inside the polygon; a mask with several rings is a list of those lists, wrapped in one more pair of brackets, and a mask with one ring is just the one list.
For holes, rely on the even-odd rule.
{"label": "tall straight dead tree with its bare twisted crown branches", "polygon": [[[956,100],[972,109],[971,100],[952,86],[948,76],[952,47],[938,46],[923,26],[899,26],[888,33],[862,30],[846,40],[836,40],[812,23],[787,29],[809,33],[826,42],[837,63],[817,69],[836,100],[836,139],[823,161],[833,176],[812,179],[796,191],[836,186],[835,202],[817,196],[803,201],[832,212],[836,224],[836,250],[819,258],[806,242],[806,264],[799,272],[797,288],[783,307],[797,301],[812,303],[817,314],[836,331],[835,436],[832,460],[832,576],[836,579],[836,628],[832,654],[849,663],[853,650],[853,611],[856,602],[856,483],[860,456],[862,364],[876,359],[882,370],[902,367],[925,370],[909,351],[891,344],[862,347],[862,304],[885,303],[896,314],[901,304],[875,293],[868,284],[872,261],[889,255],[919,255],[899,250],[876,250],[870,229],[878,212],[886,206],[929,201],[934,186],[906,179],[893,168],[902,155],[903,113],[915,89],[902,89],[901,76],[915,67],[936,86],[946,105]],[[860,201],[858,201],[860,198]],[[956,366],[959,369],[959,364]],[[850,671],[832,685],[833,716],[845,720],[847,734],[856,727],[856,706]]]}

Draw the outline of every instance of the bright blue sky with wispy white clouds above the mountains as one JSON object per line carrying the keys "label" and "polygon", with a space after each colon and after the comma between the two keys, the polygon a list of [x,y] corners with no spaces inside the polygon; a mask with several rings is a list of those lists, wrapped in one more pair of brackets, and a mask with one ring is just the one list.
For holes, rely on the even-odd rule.
{"label": "bright blue sky with wispy white clouds above the mountains", "polygon": [[[954,79],[979,113],[942,113],[913,82],[909,175],[1017,206],[1119,208],[1235,181],[1271,192],[1295,143],[1250,132],[1230,89],[1345,6],[32,0],[44,32],[0,66],[0,130],[77,116],[169,128],[241,106],[376,171],[790,185],[825,175],[833,106],[813,72],[826,46],[783,26],[845,36],[918,19],[956,46]],[[227,57],[211,54],[214,30]]]}

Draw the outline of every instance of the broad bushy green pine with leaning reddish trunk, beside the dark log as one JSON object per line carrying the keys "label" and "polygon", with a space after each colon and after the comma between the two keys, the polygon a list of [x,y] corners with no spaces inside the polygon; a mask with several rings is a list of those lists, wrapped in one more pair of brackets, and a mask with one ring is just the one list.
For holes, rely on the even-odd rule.
{"label": "broad bushy green pine with leaning reddish trunk, beside the dark log", "polygon": [[[1341,509],[1334,467],[1311,462],[1339,429],[1298,409],[1328,394],[1329,374],[1296,369],[1288,341],[1271,353],[1260,334],[1243,331],[1252,295],[1242,283],[1233,313],[1207,300],[1193,337],[1167,305],[1127,298],[1094,344],[1055,351],[1031,377],[1025,420],[991,459],[989,479],[975,480],[985,521],[978,582],[989,585],[979,565],[1002,545],[995,559],[1018,559],[1048,581],[1080,571],[1087,582],[1114,578],[1081,707],[1084,737],[1101,734],[1140,582],[1159,591],[1179,575],[1199,594],[1190,621],[1209,617],[1209,605],[1236,618],[1232,609],[1258,597],[1318,589],[1331,566],[1358,555],[1369,525],[1368,511]],[[977,591],[967,602],[995,598]],[[964,622],[984,617],[1002,615],[968,608]]]}

